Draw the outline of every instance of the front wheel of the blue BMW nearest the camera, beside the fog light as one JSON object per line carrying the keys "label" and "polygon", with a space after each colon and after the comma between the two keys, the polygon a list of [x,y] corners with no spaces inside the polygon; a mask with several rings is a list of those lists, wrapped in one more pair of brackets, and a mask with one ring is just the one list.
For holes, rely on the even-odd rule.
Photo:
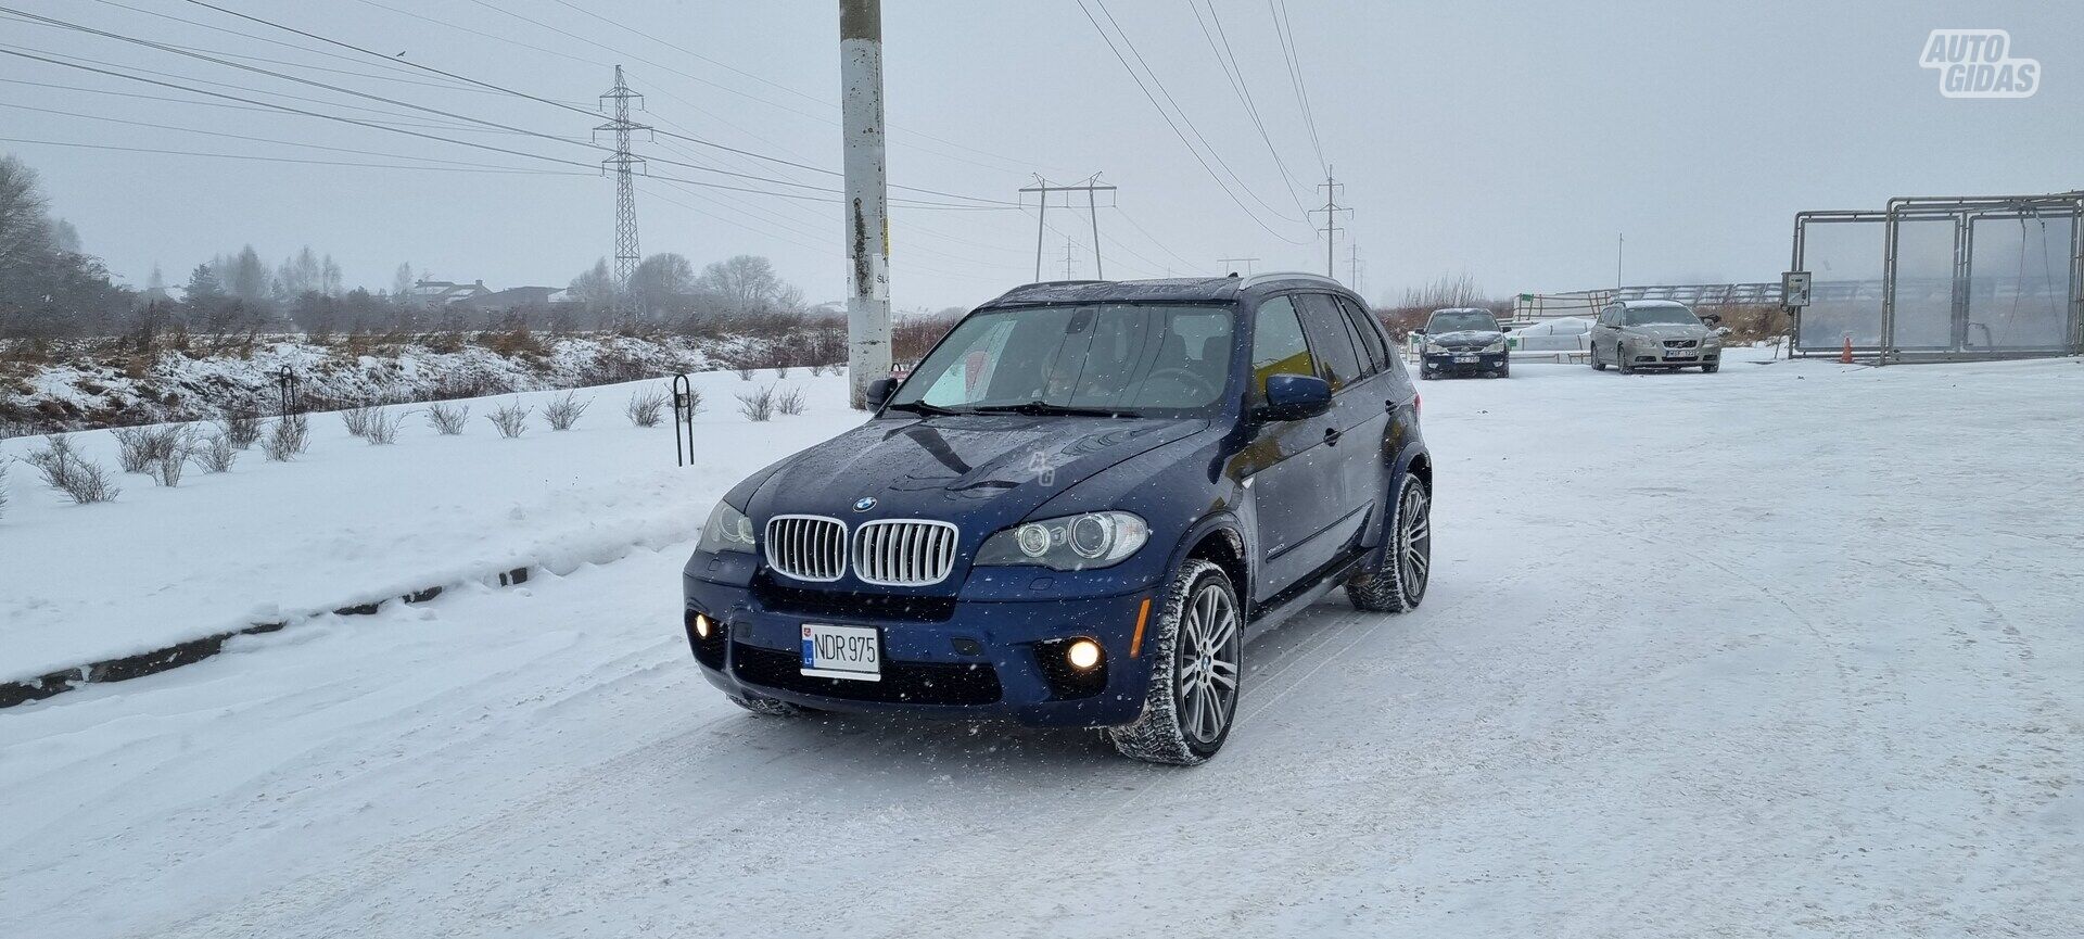
{"label": "front wheel of the blue BMW nearest the camera, beside the fog light", "polygon": [[1121,756],[1194,766],[1230,737],[1238,712],[1244,662],[1244,608],[1230,575],[1207,560],[1188,560],[1165,598],[1150,645],[1144,712],[1111,727]]}

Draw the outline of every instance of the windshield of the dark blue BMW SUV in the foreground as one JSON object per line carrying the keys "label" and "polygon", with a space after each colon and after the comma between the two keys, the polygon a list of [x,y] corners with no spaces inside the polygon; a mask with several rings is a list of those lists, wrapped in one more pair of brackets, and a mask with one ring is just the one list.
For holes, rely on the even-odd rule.
{"label": "windshield of the dark blue BMW SUV in the foreground", "polygon": [[1182,414],[1230,379],[1225,306],[1065,304],[971,314],[890,400],[925,412]]}

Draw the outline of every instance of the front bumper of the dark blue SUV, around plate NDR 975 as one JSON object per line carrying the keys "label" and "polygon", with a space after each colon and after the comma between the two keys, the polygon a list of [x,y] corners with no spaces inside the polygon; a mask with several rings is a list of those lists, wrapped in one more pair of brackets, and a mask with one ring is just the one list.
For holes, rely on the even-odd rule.
{"label": "front bumper of the dark blue SUV, around plate NDR 975", "polygon": [[[1132,656],[1138,614],[1152,591],[807,610],[765,583],[740,587],[684,575],[684,593],[696,664],[723,691],[819,710],[1007,718],[1036,727],[1136,720],[1150,679],[1159,616],[1152,608],[1142,648]],[[721,635],[709,641],[696,637],[696,612],[721,623]],[[800,675],[804,623],[875,627],[882,635],[882,681]],[[1061,666],[1059,643],[1073,637],[1090,637],[1107,652],[1100,675],[1073,675]]]}

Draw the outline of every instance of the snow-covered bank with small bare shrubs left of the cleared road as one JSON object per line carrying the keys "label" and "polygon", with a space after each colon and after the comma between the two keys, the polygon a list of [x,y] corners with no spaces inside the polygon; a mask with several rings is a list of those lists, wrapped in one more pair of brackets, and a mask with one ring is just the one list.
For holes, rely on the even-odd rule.
{"label": "snow-covered bank with small bare shrubs left of the cleared road", "polygon": [[[802,387],[809,410],[748,423],[734,396],[769,383]],[[669,425],[640,429],[623,416],[634,391],[663,381],[575,391],[592,408],[565,433],[542,418],[563,391],[458,402],[471,406],[461,437],[436,435],[415,412],[394,446],[369,446],[319,412],[311,452],[294,462],[265,462],[254,448],[231,473],[192,468],[175,489],[123,475],[121,498],[96,506],[73,506],[17,466],[0,518],[0,681],[686,539],[752,468],[861,421],[844,379],[802,369],[754,381],[700,373],[694,385],[706,410],[688,468],[673,466]],[[529,431],[500,439],[483,414],[515,400],[534,408]],[[73,439],[117,468],[108,431]],[[42,437],[0,441],[0,456],[35,446]]]}

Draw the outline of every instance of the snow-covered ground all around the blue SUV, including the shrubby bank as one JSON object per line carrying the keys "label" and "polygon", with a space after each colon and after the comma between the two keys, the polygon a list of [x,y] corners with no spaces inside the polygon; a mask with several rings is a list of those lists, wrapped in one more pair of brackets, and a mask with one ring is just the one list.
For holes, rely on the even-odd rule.
{"label": "snow-covered ground all around the blue SUV, including the shrubby bank", "polygon": [[[0,710],[0,935],[2084,935],[2078,360],[1423,383],[1425,606],[1334,598],[1250,645],[1192,770],[725,704],[667,539],[846,421],[834,387],[748,425],[738,385],[698,471],[604,391],[567,435],[17,498],[10,631],[25,591],[63,633],[150,591],[569,562]],[[444,446],[471,456],[408,458]],[[321,473],[363,489],[275,487]],[[183,500],[277,525],[167,556],[200,550]],[[573,548],[617,539],[648,548]]]}

